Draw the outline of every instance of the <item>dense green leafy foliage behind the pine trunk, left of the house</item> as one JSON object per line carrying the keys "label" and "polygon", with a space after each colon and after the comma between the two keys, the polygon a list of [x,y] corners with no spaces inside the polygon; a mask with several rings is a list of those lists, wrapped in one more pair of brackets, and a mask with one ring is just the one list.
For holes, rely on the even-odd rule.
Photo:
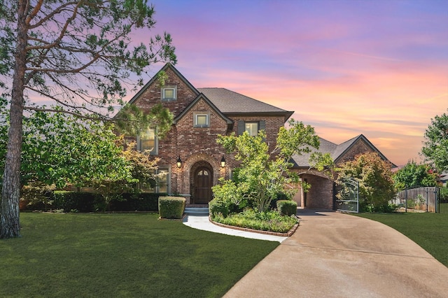
{"label": "dense green leafy foliage behind the pine trunk, left of the house", "polygon": [[[3,108],[3,117],[8,119]],[[8,122],[0,124],[0,172],[3,172]],[[32,112],[24,118],[20,182],[22,190],[91,186],[110,201],[113,194],[153,186],[157,158],[124,146],[113,125],[80,121],[64,113]],[[139,183],[139,185],[137,185]]]}

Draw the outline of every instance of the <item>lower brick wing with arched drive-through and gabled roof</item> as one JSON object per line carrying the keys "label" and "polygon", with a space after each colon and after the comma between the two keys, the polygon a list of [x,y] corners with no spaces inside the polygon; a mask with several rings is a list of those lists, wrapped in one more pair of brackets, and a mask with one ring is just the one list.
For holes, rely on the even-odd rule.
{"label": "lower brick wing with arched drive-through and gabled roof", "polygon": [[[362,134],[345,141],[339,145],[331,143],[325,139],[320,138],[321,146],[319,152],[330,153],[333,162],[336,166],[353,160],[356,155],[367,152],[377,152],[381,159],[388,161],[388,159],[381,153],[369,140]],[[324,208],[334,209],[336,199],[336,185],[334,181],[326,176],[324,173],[318,172],[315,169],[309,169],[309,155],[295,155],[293,156],[294,171],[300,173],[300,178],[311,185],[309,192],[304,193],[299,187],[299,191],[294,197],[297,205],[308,208]],[[396,167],[391,163],[392,167]]]}

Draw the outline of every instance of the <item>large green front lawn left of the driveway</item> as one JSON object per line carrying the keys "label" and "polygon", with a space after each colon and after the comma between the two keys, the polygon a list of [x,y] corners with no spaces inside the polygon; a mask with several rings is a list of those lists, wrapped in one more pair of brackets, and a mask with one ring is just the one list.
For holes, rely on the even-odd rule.
{"label": "large green front lawn left of the driveway", "polygon": [[22,213],[0,240],[0,297],[221,297],[279,243],[157,214]]}

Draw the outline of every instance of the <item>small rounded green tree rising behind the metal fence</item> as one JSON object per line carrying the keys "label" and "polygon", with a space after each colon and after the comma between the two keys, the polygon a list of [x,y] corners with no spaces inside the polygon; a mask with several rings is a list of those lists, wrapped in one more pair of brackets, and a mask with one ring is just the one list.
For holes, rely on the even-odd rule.
{"label": "small rounded green tree rising behind the metal fence", "polygon": [[427,164],[408,162],[392,176],[395,188],[404,190],[405,187],[435,186],[437,174]]}

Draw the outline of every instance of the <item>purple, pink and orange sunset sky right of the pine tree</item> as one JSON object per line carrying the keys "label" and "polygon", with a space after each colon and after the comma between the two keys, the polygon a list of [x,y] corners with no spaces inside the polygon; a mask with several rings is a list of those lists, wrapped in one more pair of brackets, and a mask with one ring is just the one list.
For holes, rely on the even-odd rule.
{"label": "purple, pink and orange sunset sky right of the pine tree", "polygon": [[295,111],[333,143],[364,134],[391,162],[419,162],[447,113],[448,1],[152,3],[156,27],[134,40],[167,31],[195,87]]}

